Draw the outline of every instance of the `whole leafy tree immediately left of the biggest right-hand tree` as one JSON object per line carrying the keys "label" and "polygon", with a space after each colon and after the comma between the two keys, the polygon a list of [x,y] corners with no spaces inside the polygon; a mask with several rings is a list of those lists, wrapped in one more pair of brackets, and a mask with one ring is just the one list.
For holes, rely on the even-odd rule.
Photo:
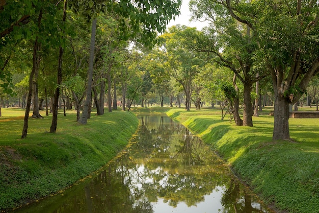
{"label": "whole leafy tree immediately left of the biggest right-hand tree", "polygon": [[[224,1],[191,1],[193,18],[205,18],[210,21],[209,27],[198,33],[198,40],[193,44],[199,52],[212,54],[211,58],[221,66],[232,70],[236,79],[244,85],[243,126],[253,126],[253,107],[251,88],[255,82],[268,74],[254,69],[254,60],[258,50],[257,37],[251,27],[232,18],[223,7]],[[202,37],[202,38],[201,38]]]}

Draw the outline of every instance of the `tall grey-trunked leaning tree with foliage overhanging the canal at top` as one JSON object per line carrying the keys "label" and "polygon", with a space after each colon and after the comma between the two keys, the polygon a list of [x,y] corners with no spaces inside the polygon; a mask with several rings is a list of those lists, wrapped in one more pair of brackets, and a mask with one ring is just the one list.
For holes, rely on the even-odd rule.
{"label": "tall grey-trunked leaning tree with foliage overhanging the canal at top", "polygon": [[[91,99],[91,82],[93,76],[93,59],[94,59],[94,44],[95,44],[95,28],[96,15],[100,11],[112,12],[118,14],[119,30],[121,38],[126,40],[130,37],[138,35],[141,37],[139,41],[151,45],[155,42],[156,31],[161,33],[165,30],[168,20],[179,14],[179,6],[181,1],[177,3],[171,0],[163,0],[161,2],[148,1],[118,1],[118,2],[87,2],[87,1],[72,1],[71,9],[84,14],[88,20],[93,19],[92,35],[91,35],[91,50],[88,69],[88,84],[86,92],[86,100],[83,108],[81,119],[78,121],[81,124],[87,123],[88,105]],[[128,20],[128,23],[126,22]],[[141,27],[142,26],[142,27]],[[94,38],[93,38],[94,36]],[[92,54],[92,56],[91,56]],[[92,64],[91,64],[92,63]]]}

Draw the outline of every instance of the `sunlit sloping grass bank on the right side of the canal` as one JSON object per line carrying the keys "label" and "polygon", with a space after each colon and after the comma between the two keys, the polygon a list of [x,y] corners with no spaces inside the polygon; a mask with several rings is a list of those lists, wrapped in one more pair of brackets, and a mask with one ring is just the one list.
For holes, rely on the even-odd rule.
{"label": "sunlit sloping grass bank on the right side of the canal", "polygon": [[278,212],[319,212],[319,119],[289,119],[294,141],[272,141],[273,117],[253,117],[254,127],[221,121],[219,110],[167,114],[198,134],[234,173]]}

